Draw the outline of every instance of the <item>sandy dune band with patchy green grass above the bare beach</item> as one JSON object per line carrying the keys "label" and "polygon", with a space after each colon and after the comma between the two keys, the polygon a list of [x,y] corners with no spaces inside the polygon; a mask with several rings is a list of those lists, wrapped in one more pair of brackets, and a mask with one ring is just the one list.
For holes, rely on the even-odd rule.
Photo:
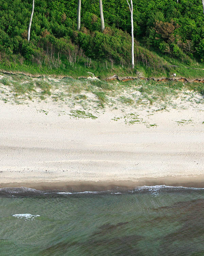
{"label": "sandy dune band with patchy green grass above the bare beach", "polygon": [[[4,75],[0,79],[1,99],[4,102],[15,98],[20,103],[24,99],[65,102],[70,106],[80,104],[86,109],[87,105],[95,108],[105,108],[107,105],[117,108],[118,104],[136,108],[138,105],[154,105],[159,103],[159,110],[166,108],[166,103],[186,91],[187,94],[197,92],[204,96],[204,84],[183,82],[156,82],[154,80],[133,81],[103,81],[99,79],[73,79],[63,77],[54,79],[44,76],[32,78],[25,75]],[[10,96],[9,96],[10,95]],[[12,96],[13,95],[13,96]],[[190,96],[190,95],[189,95]],[[197,100],[197,103],[201,102]]]}

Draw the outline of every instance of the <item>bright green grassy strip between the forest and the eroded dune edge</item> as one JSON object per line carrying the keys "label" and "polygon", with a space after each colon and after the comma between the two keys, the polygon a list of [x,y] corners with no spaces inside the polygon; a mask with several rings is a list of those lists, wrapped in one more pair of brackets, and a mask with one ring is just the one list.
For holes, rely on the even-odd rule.
{"label": "bright green grassy strip between the forest and the eroded dune edge", "polygon": [[[33,64],[24,60],[22,64],[18,61],[15,63],[13,61],[1,61],[0,70],[22,72],[27,74],[29,73],[33,75],[63,75],[71,76],[73,78],[90,76],[89,72],[94,73],[101,79],[112,76],[114,74],[118,76],[136,76],[137,72],[140,72],[144,77],[171,77],[173,73],[176,73],[177,77],[186,77],[187,79],[204,79],[204,70],[192,69],[203,69],[204,64],[202,63],[198,63],[193,60],[192,64],[189,66],[179,60],[167,57],[165,55],[160,55],[159,57],[161,58],[162,62],[166,63],[167,68],[158,70],[156,68],[146,67],[140,63],[136,63],[134,70],[132,70],[130,66],[124,66],[122,68],[121,65],[116,63],[114,63],[112,68],[109,61],[106,62],[103,60],[91,60],[90,68],[87,68],[85,67],[85,61],[87,61],[86,59],[80,60],[78,63],[75,63],[74,66],[70,66],[67,62],[67,59],[63,58],[62,56],[62,64],[58,69],[50,69],[45,65],[40,67],[35,63]],[[178,67],[170,67],[170,65],[175,65]]]}

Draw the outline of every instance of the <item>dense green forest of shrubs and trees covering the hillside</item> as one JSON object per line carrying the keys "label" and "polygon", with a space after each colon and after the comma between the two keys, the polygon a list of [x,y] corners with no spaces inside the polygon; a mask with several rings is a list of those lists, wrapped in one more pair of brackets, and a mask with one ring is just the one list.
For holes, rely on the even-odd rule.
{"label": "dense green forest of shrubs and trees covering the hillside", "polygon": [[[185,65],[204,62],[204,14],[201,0],[133,0],[135,63],[168,69],[172,58]],[[0,66],[67,70],[131,67],[131,19],[126,0],[103,0],[101,32],[98,0],[82,0],[77,30],[77,0],[1,0]],[[102,65],[102,64],[101,64]]]}

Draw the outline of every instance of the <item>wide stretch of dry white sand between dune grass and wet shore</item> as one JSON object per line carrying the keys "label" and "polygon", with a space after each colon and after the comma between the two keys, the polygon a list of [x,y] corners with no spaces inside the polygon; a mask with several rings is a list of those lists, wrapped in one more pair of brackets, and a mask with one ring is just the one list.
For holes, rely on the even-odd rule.
{"label": "wide stretch of dry white sand between dune grass and wet shore", "polygon": [[[0,101],[0,187],[203,175],[203,110],[195,103],[153,115],[138,110],[147,123],[128,125],[119,110],[76,119],[66,105]],[[112,120],[117,116],[122,118]]]}

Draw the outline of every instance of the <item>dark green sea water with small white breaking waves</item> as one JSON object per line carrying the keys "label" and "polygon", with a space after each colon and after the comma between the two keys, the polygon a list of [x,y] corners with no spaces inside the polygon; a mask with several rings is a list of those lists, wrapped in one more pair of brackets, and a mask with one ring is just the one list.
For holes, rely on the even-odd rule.
{"label": "dark green sea water with small white breaking waves", "polygon": [[204,255],[204,189],[119,190],[0,189],[0,255]]}

